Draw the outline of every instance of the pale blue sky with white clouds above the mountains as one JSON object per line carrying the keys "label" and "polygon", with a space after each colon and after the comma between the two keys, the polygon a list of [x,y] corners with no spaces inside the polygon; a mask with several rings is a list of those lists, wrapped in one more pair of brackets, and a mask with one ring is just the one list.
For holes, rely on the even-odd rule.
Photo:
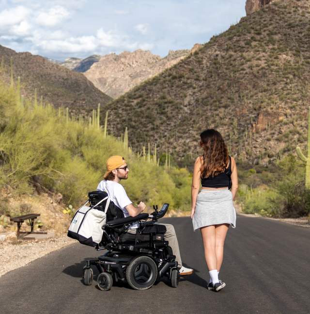
{"label": "pale blue sky with white clouds above the mountains", "polygon": [[190,49],[245,16],[246,0],[0,0],[0,45],[64,60]]}

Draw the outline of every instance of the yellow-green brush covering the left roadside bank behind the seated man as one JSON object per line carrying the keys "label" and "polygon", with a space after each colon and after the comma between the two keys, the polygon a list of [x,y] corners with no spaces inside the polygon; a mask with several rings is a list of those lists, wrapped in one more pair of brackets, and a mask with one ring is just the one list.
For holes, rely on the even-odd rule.
{"label": "yellow-green brush covering the left roadside bank behind the seated man", "polygon": [[[65,110],[21,98],[19,83],[0,82],[0,187],[13,187],[16,194],[61,193],[64,204],[77,208],[102,180],[107,158],[118,154],[129,165],[124,186],[134,203],[168,202],[172,210],[188,210],[187,170],[164,169],[127,145],[107,135],[95,117],[87,123],[70,119]],[[12,215],[2,198],[0,216]]]}

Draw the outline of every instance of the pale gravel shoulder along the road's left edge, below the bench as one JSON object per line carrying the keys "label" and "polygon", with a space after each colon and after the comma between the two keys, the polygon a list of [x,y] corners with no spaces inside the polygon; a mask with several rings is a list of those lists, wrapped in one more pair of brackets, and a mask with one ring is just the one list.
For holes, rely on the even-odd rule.
{"label": "pale gravel shoulder along the road's left edge, below the bench", "polygon": [[76,243],[62,235],[47,240],[18,241],[17,243],[0,243],[0,277],[8,271],[25,266],[52,251]]}

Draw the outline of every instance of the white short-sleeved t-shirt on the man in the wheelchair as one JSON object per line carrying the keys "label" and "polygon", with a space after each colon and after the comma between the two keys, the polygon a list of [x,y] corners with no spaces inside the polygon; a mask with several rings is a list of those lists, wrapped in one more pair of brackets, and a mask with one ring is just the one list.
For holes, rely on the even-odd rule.
{"label": "white short-sleeved t-shirt on the man in the wheelchair", "polygon": [[[123,211],[124,216],[130,216],[125,207],[132,204],[132,201],[128,198],[122,184],[110,180],[102,180],[97,186],[97,191],[107,192],[113,203]],[[135,222],[130,228],[138,228],[138,226],[138,223]]]}

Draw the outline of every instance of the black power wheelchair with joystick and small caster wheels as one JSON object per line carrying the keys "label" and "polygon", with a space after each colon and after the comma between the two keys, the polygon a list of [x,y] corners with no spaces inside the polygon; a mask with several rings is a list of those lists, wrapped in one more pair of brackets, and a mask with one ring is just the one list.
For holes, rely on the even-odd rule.
{"label": "black power wheelchair with joystick and small caster wheels", "polygon": [[[91,205],[97,204],[105,195],[100,191],[89,193]],[[178,263],[168,241],[164,240],[166,227],[155,223],[167,213],[168,207],[165,203],[158,211],[158,207],[153,206],[152,214],[125,218],[118,207],[109,208],[107,222],[102,228],[102,241],[96,246],[96,250],[106,249],[107,252],[86,261],[83,283],[92,284],[91,266],[94,265],[99,271],[97,285],[103,291],[108,291],[113,282],[127,282],[135,290],[146,290],[164,277],[176,288],[180,276]],[[100,205],[95,208],[100,210]],[[133,222],[139,223],[136,234],[126,232]]]}

